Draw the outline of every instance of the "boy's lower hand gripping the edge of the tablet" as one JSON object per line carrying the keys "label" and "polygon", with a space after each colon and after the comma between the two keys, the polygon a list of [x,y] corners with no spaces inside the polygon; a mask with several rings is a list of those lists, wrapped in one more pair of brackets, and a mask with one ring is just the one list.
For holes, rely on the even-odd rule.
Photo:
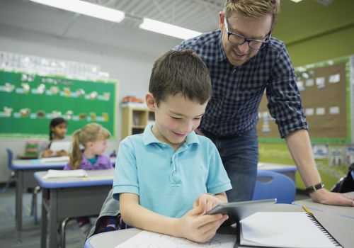
{"label": "boy's lower hand gripping the edge of the tablet", "polygon": [[176,226],[178,236],[195,242],[207,242],[207,240],[214,237],[217,229],[229,216],[221,213],[205,215],[206,210],[206,199],[201,198],[195,208],[189,210],[181,219],[178,219]]}

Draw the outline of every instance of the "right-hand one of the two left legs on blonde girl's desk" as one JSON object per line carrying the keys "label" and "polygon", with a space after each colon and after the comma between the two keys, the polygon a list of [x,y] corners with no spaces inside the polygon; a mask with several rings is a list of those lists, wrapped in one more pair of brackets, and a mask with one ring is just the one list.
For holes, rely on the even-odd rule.
{"label": "right-hand one of the two left legs on blonde girl's desk", "polygon": [[[58,188],[50,190],[49,247],[57,247],[57,194]],[[70,207],[70,206],[68,206]]]}

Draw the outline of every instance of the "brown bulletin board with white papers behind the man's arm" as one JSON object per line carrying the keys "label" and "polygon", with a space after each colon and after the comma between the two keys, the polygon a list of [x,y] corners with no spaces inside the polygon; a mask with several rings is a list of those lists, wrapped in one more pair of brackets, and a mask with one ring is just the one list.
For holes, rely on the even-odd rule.
{"label": "brown bulletin board with white papers behind the man's arm", "polygon": [[[343,57],[295,68],[312,142],[351,142],[350,67],[350,57]],[[261,142],[280,142],[267,103],[264,94],[258,110],[258,136]]]}

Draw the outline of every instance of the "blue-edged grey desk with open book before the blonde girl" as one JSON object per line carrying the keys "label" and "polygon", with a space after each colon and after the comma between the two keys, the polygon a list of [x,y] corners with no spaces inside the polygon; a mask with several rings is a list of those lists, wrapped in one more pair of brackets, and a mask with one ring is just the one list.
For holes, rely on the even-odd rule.
{"label": "blue-edged grey desk with open book before the blonde girl", "polygon": [[98,215],[113,184],[113,169],[87,171],[86,178],[43,179],[46,171],[35,173],[43,188],[40,247],[47,247],[47,218],[49,246],[57,247],[57,223],[64,218]]}

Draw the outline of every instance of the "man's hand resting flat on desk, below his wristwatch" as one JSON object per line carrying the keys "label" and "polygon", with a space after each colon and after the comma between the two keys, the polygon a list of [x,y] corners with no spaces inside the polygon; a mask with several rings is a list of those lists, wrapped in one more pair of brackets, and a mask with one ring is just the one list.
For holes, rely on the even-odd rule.
{"label": "man's hand resting flat on desk, below his wristwatch", "polygon": [[312,201],[327,205],[349,205],[354,207],[354,196],[348,196],[345,193],[334,193],[321,188],[318,191],[310,193]]}

